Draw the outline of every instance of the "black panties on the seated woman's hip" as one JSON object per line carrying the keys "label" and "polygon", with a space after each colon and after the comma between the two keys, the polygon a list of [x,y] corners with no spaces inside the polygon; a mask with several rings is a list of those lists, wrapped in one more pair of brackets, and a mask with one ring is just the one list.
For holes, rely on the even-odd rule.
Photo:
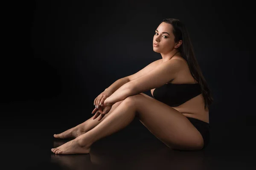
{"label": "black panties on the seated woman's hip", "polygon": [[[189,121],[197,128],[197,130],[201,133],[204,139],[204,147],[206,147],[209,144],[210,141],[210,125],[207,122],[191,118],[191,117],[186,117],[189,119]],[[204,148],[203,147],[203,148]]]}

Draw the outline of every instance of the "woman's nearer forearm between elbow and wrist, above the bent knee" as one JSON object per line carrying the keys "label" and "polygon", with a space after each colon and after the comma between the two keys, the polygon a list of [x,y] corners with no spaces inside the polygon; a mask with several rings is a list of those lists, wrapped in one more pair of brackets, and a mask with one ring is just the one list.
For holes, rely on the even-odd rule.
{"label": "woman's nearer forearm between elbow and wrist, above the bent knee", "polygon": [[115,104],[116,102],[124,100],[126,97],[134,95],[131,89],[131,84],[128,82],[117,89],[111,96],[105,99],[104,104]]}

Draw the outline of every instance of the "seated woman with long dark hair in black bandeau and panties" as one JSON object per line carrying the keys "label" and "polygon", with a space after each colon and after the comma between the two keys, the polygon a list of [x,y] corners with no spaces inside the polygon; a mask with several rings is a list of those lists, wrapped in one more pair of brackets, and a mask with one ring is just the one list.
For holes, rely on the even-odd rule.
{"label": "seated woman with long dark hair in black bandeau and panties", "polygon": [[[164,19],[155,31],[153,50],[162,59],[105,89],[94,100],[92,118],[54,135],[75,139],[52,148],[53,153],[89,153],[94,142],[126,127],[135,116],[172,149],[201,150],[209,143],[213,99],[184,24]],[[142,93],[148,90],[154,98]]]}

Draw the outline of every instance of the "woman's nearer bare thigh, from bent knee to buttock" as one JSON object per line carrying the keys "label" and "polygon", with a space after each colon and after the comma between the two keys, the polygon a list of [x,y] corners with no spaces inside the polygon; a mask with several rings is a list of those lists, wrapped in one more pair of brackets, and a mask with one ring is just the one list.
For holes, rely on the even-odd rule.
{"label": "woman's nearer bare thigh, from bent knee to buttock", "polygon": [[201,133],[182,113],[148,95],[129,96],[137,117],[158,139],[168,147],[198,150],[204,145]]}

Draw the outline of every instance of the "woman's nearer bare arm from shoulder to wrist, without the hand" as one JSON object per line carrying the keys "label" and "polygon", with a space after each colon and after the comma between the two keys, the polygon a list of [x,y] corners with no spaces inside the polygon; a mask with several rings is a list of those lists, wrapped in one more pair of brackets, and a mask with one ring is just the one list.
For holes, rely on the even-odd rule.
{"label": "woman's nearer bare arm from shoulder to wrist, without the hand", "polygon": [[182,61],[178,59],[163,62],[144,76],[122,85],[104,101],[104,104],[114,104],[128,96],[161,87],[176,77],[178,71],[182,69],[181,66]]}

